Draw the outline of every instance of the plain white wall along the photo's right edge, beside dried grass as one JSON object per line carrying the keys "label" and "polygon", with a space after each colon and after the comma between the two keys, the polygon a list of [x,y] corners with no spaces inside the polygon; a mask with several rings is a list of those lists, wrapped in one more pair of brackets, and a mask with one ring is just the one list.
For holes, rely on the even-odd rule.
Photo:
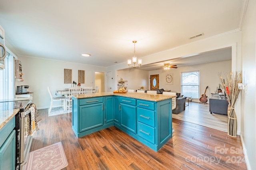
{"label": "plain white wall along the photo's right edge, beside dried grass", "polygon": [[249,0],[242,27],[242,74],[246,90],[242,90],[241,137],[248,169],[256,169],[256,1]]}

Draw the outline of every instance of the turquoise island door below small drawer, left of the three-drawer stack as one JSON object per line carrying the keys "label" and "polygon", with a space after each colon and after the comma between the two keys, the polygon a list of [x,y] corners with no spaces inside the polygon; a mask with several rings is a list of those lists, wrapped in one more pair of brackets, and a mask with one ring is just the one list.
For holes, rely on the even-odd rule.
{"label": "turquoise island door below small drawer, left of the three-drawer stack", "polygon": [[136,106],[120,104],[121,126],[136,133]]}

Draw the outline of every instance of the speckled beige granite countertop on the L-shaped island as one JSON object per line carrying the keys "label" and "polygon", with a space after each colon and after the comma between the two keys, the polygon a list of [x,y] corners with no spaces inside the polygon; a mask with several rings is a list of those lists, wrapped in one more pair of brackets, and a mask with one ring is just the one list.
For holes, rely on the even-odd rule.
{"label": "speckled beige granite countertop on the L-shaped island", "polygon": [[90,94],[76,94],[74,95],[74,98],[82,99],[82,98],[94,98],[94,97],[102,97],[102,96],[124,96],[128,98],[134,98],[134,99],[140,99],[140,100],[148,100],[152,102],[159,102],[161,100],[166,100],[170,98],[174,98],[176,96],[165,96],[162,94],[142,94],[142,93],[126,93],[126,94],[120,94],[120,93],[113,93],[113,92],[102,92],[102,93],[90,93]]}

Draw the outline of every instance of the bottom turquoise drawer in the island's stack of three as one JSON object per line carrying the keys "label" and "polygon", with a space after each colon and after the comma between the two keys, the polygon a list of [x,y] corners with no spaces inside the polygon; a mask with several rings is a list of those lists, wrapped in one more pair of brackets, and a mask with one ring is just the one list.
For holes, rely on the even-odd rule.
{"label": "bottom turquoise drawer in the island's stack of three", "polygon": [[153,144],[155,143],[155,129],[153,127],[138,122],[137,135]]}

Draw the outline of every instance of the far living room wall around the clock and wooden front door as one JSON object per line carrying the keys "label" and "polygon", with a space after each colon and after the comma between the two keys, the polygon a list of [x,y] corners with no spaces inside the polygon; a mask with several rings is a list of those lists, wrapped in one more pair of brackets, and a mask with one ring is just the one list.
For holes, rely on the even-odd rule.
{"label": "far living room wall around the clock and wooden front door", "polygon": [[[231,55],[231,54],[230,54]],[[149,72],[150,74],[159,74],[159,88],[163,88],[164,90],[171,90],[172,92],[181,92],[181,72],[189,72],[189,71],[198,71],[200,74],[200,90],[199,90],[199,98],[206,89],[206,96],[208,98],[211,97],[211,93],[216,91],[216,87],[219,85],[219,72],[230,72],[231,71],[231,61],[218,62],[218,63],[209,63],[209,64],[198,64],[193,66],[183,66],[178,68],[171,68],[168,72],[173,73],[173,84],[166,85],[165,84],[165,70],[154,70]],[[190,96],[188,96],[190,97]],[[199,102],[199,100],[198,100]],[[208,101],[209,102],[209,101]]]}

